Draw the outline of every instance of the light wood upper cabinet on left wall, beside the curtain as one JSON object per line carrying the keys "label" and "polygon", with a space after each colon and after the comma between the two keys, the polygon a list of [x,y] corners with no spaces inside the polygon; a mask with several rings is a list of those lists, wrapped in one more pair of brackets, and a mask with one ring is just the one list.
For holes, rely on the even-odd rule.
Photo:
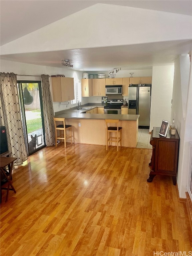
{"label": "light wood upper cabinet on left wall, beside the curtain", "polygon": [[73,78],[52,77],[51,80],[54,102],[63,102],[75,99]]}

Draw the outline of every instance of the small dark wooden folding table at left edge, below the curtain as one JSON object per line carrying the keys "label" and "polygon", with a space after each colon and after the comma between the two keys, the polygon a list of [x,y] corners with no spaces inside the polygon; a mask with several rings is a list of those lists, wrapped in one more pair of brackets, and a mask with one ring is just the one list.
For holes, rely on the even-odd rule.
{"label": "small dark wooden folding table at left edge, below the curtain", "polygon": [[[5,177],[7,179],[7,187],[2,187],[1,186],[1,199],[2,199],[2,189],[7,190],[7,194],[6,194],[6,200],[5,202],[7,202],[8,200],[8,195],[9,195],[9,190],[13,190],[14,193],[16,193],[13,185],[11,184],[11,178],[12,178],[12,169],[13,169],[13,162],[17,160],[16,157],[4,157],[1,156],[0,157],[0,168],[1,168],[1,173],[2,176]],[[8,166],[9,168],[9,172],[6,171],[6,166]],[[9,176],[9,177],[8,177]],[[1,183],[1,182],[0,182]],[[11,188],[9,188],[11,186]],[[1,200],[0,199],[0,200]]]}

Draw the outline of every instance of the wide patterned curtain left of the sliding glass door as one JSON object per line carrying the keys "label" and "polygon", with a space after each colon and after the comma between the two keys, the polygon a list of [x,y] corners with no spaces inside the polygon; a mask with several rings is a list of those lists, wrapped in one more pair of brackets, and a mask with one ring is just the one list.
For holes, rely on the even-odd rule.
{"label": "wide patterned curtain left of the sliding glass door", "polygon": [[0,125],[6,128],[8,150],[13,157],[17,157],[15,164],[21,165],[28,157],[23,138],[17,75],[0,72],[0,81]]}

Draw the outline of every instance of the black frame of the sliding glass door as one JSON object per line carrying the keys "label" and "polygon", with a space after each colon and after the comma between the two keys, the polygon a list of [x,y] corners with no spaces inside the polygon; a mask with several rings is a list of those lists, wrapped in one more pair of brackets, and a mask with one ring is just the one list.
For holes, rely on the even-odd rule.
{"label": "black frame of the sliding glass door", "polygon": [[[29,142],[28,142],[27,123],[26,123],[26,116],[25,116],[22,83],[36,83],[36,84],[38,84],[38,88],[39,88],[39,100],[40,100],[40,110],[41,110],[41,120],[42,120],[42,130],[43,130],[43,134],[42,134],[43,135],[43,146],[36,148],[32,152],[29,151]],[[42,100],[41,81],[18,80],[17,86],[18,86],[18,92],[19,92],[19,102],[20,102],[22,125],[23,125],[23,136],[24,136],[24,141],[25,141],[25,145],[26,145],[27,155],[30,156],[30,155],[36,153],[37,151],[39,151],[40,149],[47,146],[46,140],[45,140],[45,126],[44,126],[44,116],[43,116],[43,100]]]}

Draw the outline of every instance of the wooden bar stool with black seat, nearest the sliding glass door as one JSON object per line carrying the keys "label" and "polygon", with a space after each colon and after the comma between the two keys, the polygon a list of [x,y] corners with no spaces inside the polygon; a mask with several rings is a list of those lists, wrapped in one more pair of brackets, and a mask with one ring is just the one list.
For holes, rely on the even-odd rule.
{"label": "wooden bar stool with black seat, nearest the sliding glass door", "polygon": [[[56,124],[56,122],[63,122],[63,124]],[[65,118],[54,117],[55,124],[55,147],[57,147],[57,139],[64,140],[65,148],[66,148],[66,139],[71,138],[72,144],[72,136],[71,136],[71,125],[65,124]],[[59,130],[60,135],[57,135],[57,130]],[[70,131],[70,134],[66,134],[66,130]],[[63,131],[63,132],[62,132]]]}

